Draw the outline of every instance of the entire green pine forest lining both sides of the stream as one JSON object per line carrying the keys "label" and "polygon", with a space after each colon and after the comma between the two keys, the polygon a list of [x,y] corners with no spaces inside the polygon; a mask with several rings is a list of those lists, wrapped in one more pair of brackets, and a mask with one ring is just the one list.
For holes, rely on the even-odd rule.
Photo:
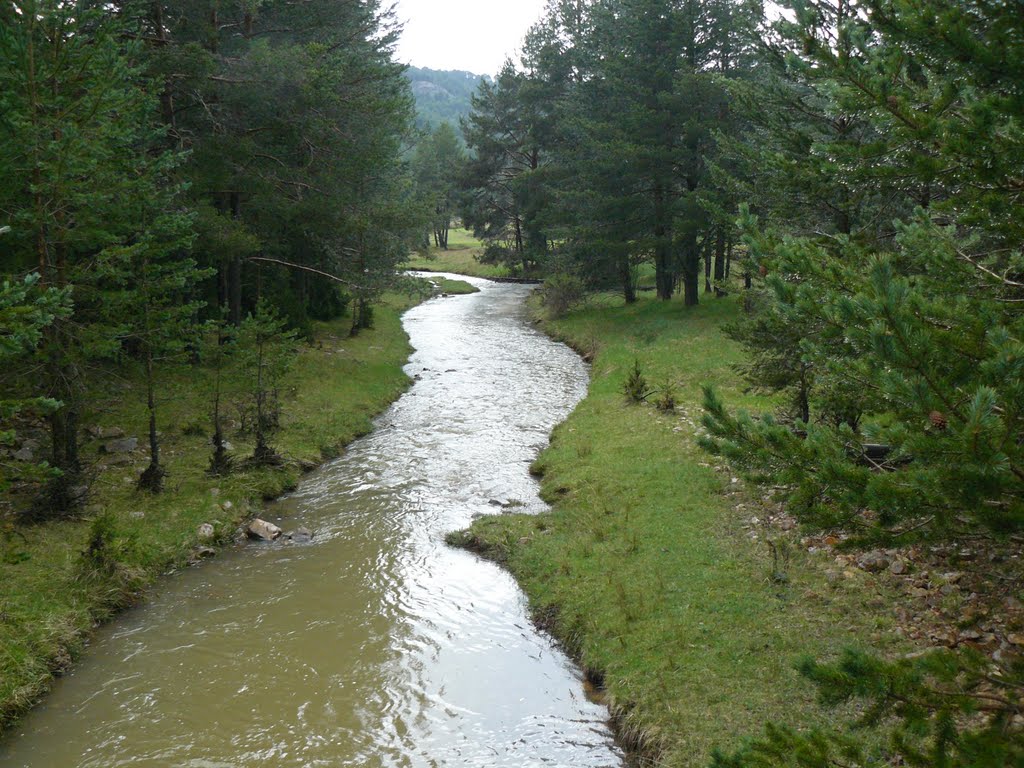
{"label": "entire green pine forest lining both sides of the stream", "polygon": [[[368,331],[411,254],[465,227],[482,263],[546,281],[555,321],[598,295],[740,294],[725,333],[771,408],[705,387],[706,455],[846,551],[993,548],[983,578],[1024,621],[1017,3],[550,0],[520,60],[453,74],[476,87],[468,115],[435,104],[419,127],[399,33],[377,0],[0,3],[17,528],[81,513],[90,392],[125,367],[147,414],[138,493],[165,490],[172,368],[216,373],[194,415],[209,472],[242,461],[231,388],[247,466],[280,465],[278,383],[314,324]],[[16,456],[40,424],[48,444]],[[1022,629],[806,659],[884,738],[773,724],[715,764],[1022,766]]]}

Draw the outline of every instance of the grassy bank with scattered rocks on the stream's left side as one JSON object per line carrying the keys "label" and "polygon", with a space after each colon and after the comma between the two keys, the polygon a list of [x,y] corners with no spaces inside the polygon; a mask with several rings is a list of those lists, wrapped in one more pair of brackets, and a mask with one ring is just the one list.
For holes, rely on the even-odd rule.
{"label": "grassy bank with scattered rocks on the stream's left side", "polygon": [[[315,342],[302,349],[282,392],[282,428],[272,440],[286,459],[282,467],[206,476],[210,374],[184,367],[163,377],[158,427],[169,472],[165,493],[135,490],[144,451],[104,456],[99,439],[83,445],[95,466],[83,519],[16,527],[0,540],[0,727],[72,663],[95,623],[136,600],[159,575],[231,540],[262,500],[294,487],[303,471],[371,429],[372,418],[408,386],[401,368],[411,347],[399,315],[413,303],[387,297],[376,309],[375,328],[355,338],[348,337],[345,318],[316,328]],[[105,377],[89,423],[144,437],[138,373],[119,369]],[[251,453],[237,425],[227,437],[238,457]],[[212,541],[199,540],[203,523],[213,525]],[[90,546],[93,556],[83,556]]]}

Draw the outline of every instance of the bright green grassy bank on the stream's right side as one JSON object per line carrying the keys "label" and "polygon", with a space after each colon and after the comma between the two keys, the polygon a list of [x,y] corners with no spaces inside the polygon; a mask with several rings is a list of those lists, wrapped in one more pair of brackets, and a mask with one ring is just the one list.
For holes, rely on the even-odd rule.
{"label": "bright green grassy bank on the stream's right side", "polygon": [[[763,526],[773,510],[695,445],[701,384],[756,404],[722,333],[738,311],[733,297],[687,310],[645,296],[547,323],[595,355],[588,397],[535,466],[553,510],[452,537],[508,565],[538,620],[603,680],[624,736],[667,766],[707,765],[768,721],[819,721],[801,655],[900,644],[877,610],[885,584],[826,573],[831,555]],[[674,413],[626,402],[635,360],[674,388]]]}

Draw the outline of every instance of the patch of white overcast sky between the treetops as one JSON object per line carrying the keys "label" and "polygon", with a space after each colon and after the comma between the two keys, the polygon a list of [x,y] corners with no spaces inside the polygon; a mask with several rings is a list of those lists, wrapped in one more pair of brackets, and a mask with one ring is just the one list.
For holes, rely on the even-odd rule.
{"label": "patch of white overcast sky between the treetops", "polygon": [[545,0],[396,0],[398,60],[496,75],[541,18]]}

